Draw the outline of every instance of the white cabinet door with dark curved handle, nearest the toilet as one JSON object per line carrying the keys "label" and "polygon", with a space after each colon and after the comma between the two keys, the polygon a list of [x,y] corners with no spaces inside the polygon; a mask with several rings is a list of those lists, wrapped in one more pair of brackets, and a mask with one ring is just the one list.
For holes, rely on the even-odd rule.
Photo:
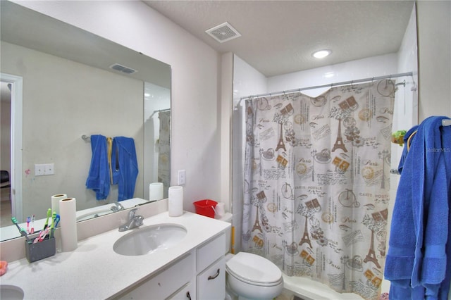
{"label": "white cabinet door with dark curved handle, nearest the toilet", "polygon": [[204,272],[197,275],[197,299],[215,300],[226,298],[226,259],[221,258]]}

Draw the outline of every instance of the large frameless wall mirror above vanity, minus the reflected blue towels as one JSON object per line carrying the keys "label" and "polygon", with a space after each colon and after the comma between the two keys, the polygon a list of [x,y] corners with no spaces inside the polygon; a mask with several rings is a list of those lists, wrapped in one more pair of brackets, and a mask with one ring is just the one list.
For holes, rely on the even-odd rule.
{"label": "large frameless wall mirror above vanity, minus the reflected blue towels", "polygon": [[[89,212],[82,220],[121,208],[117,185],[105,200],[85,186],[91,135],[134,139],[133,198],[149,200],[152,182],[163,182],[167,197],[171,66],[9,1],[1,1],[0,20],[1,170],[12,185],[1,191],[1,239],[11,238],[8,203],[19,222],[45,218],[55,194],[76,198],[77,210]],[[54,174],[36,175],[42,164]]]}

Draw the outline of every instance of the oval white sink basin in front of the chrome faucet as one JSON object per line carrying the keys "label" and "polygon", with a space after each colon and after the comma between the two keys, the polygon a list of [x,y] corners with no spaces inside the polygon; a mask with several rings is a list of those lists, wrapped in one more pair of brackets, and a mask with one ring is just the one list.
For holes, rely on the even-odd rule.
{"label": "oval white sink basin in front of the chrome faucet", "polygon": [[118,239],[113,244],[113,250],[126,256],[151,254],[177,244],[185,235],[185,227],[175,224],[141,227]]}

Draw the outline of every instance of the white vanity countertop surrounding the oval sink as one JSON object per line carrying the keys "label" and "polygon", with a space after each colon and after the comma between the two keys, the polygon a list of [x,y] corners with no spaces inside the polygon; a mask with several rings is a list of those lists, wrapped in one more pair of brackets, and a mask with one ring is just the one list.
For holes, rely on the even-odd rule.
{"label": "white vanity countertop surrounding the oval sink", "polygon": [[116,254],[114,242],[133,230],[111,230],[79,241],[74,251],[34,263],[26,258],[13,261],[0,277],[1,285],[20,287],[25,299],[108,299],[230,227],[230,223],[185,211],[176,218],[169,217],[168,212],[146,218],[140,228],[168,223],[187,229],[183,240],[170,249],[143,256]]}

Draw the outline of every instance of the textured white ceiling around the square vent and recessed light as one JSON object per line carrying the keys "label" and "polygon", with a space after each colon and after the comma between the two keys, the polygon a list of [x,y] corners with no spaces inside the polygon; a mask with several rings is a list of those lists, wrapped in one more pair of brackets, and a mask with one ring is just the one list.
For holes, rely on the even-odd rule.
{"label": "textured white ceiling around the square vent and recessed light", "polygon": [[[395,53],[414,1],[144,1],[220,53],[267,77]],[[218,43],[205,30],[228,22],[242,35]],[[321,61],[319,49],[333,53]]]}

